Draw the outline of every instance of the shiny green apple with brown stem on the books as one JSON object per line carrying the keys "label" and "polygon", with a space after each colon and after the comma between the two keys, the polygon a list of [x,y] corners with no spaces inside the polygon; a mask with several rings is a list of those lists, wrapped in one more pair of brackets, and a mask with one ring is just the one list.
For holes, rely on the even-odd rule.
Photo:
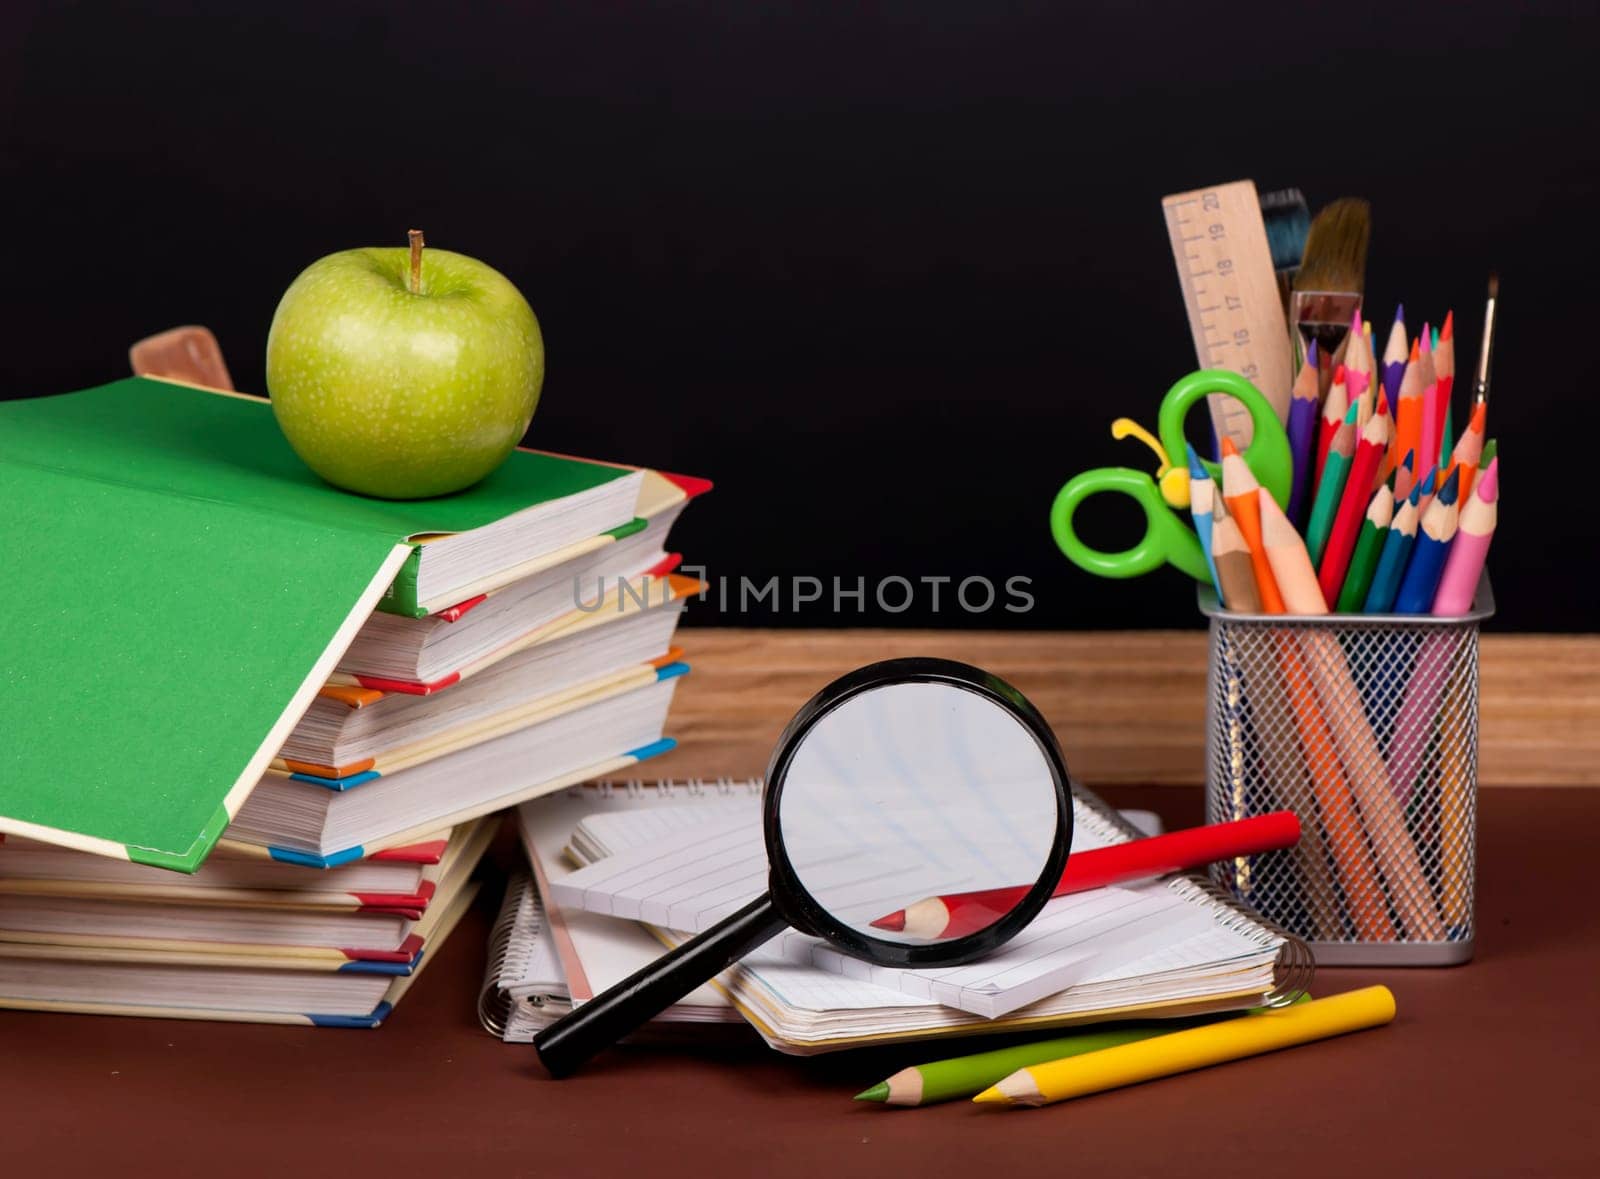
{"label": "shiny green apple with brown stem on the books", "polygon": [[346,250],[290,285],[267,333],[285,437],[334,486],[384,499],[472,486],[539,403],[544,339],[498,270],[448,250]]}

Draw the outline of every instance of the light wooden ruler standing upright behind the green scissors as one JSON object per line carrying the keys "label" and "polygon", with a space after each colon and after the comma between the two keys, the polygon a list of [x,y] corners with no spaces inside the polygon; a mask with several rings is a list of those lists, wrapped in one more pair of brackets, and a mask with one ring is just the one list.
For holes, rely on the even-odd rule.
{"label": "light wooden ruler standing upright behind the green scissors", "polygon": [[[1254,182],[1162,197],[1162,213],[1200,368],[1238,373],[1286,422],[1294,358]],[[1218,438],[1227,435],[1240,450],[1248,446],[1245,406],[1226,394],[1213,394],[1208,403]]]}

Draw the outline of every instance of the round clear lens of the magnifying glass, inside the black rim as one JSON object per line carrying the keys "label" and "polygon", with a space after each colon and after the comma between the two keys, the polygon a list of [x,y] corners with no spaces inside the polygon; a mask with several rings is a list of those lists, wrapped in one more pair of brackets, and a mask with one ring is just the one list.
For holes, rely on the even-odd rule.
{"label": "round clear lens of the magnifying glass, inside the black rim", "polygon": [[778,798],[794,883],[872,942],[1002,921],[1058,840],[1058,774],[1013,709],[950,683],[858,693],[802,737]]}

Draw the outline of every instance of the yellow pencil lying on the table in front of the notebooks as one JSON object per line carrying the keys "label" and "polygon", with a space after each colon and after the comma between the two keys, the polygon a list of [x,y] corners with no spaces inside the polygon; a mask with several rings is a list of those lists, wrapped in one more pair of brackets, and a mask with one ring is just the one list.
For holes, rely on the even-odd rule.
{"label": "yellow pencil lying on the table in front of the notebooks", "polygon": [[1389,987],[1362,987],[1250,1019],[1192,1027],[1154,1040],[1018,1069],[973,1101],[984,1105],[1050,1105],[1347,1032],[1382,1027],[1394,1017],[1395,997]]}

